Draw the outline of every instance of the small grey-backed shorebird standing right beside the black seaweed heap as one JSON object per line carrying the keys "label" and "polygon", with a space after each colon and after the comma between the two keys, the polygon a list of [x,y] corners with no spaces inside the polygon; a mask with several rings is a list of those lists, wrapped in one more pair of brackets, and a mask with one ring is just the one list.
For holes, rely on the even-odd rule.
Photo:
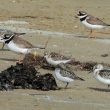
{"label": "small grey-backed shorebird standing right beside the black seaweed heap", "polygon": [[57,65],[54,74],[58,80],[67,83],[65,88],[67,88],[68,84],[70,82],[73,82],[74,80],[84,81],[84,79],[75,75],[75,73],[70,68],[67,68],[66,65],[64,65],[63,63]]}

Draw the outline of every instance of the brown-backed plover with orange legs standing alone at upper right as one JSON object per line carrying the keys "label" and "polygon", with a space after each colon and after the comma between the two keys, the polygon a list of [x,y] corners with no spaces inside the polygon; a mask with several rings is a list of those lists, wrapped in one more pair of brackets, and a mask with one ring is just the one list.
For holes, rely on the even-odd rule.
{"label": "brown-backed plover with orange legs standing alone at upper right", "polygon": [[95,37],[93,36],[94,29],[102,29],[102,28],[110,26],[110,24],[104,23],[99,18],[89,15],[85,11],[79,11],[78,17],[80,18],[80,21],[82,24],[84,24],[86,27],[91,29],[89,37]]}

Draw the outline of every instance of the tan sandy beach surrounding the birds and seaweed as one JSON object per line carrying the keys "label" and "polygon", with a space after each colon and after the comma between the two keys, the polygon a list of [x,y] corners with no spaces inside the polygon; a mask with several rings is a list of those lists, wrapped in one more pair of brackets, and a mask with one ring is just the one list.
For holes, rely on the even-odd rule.
{"label": "tan sandy beach surrounding the birds and seaweed", "polygon": [[[44,45],[51,37],[47,51],[72,55],[80,61],[110,64],[110,28],[98,30],[105,34],[96,33],[97,39],[88,39],[89,29],[74,17],[78,10],[86,10],[110,23],[109,4],[110,0],[0,0],[0,28],[26,32],[22,37],[34,45]],[[0,50],[0,71],[14,65],[18,57],[6,47]],[[87,71],[74,72],[85,81],[74,81],[68,89],[56,80],[61,90],[0,92],[0,110],[109,110],[110,89]]]}

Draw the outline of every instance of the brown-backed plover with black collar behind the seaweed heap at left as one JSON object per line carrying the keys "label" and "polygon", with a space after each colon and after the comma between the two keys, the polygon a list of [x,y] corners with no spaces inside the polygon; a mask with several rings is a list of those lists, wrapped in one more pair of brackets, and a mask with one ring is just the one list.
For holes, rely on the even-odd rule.
{"label": "brown-backed plover with black collar behind the seaweed heap at left", "polygon": [[45,49],[44,47],[33,46],[28,41],[18,37],[19,34],[9,33],[0,36],[0,42],[3,42],[7,48],[18,54],[28,54],[32,50]]}

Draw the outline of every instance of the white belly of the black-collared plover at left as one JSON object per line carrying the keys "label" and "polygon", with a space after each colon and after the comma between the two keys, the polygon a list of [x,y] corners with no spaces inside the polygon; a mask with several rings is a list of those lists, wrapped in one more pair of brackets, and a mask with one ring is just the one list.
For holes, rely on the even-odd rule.
{"label": "white belly of the black-collared plover at left", "polygon": [[16,52],[16,53],[26,54],[28,52],[27,48],[20,48],[12,41],[9,44],[6,44],[6,46],[8,47],[9,50]]}

